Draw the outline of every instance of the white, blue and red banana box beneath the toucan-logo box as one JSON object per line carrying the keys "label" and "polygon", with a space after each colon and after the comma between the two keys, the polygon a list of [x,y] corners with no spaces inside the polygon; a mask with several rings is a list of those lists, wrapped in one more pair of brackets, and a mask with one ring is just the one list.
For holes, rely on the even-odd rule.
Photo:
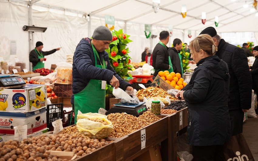
{"label": "white, blue and red banana box beneath the toucan-logo box", "polygon": [[14,127],[21,125],[27,125],[27,135],[45,129],[46,108],[26,113],[0,112],[0,135],[14,135]]}

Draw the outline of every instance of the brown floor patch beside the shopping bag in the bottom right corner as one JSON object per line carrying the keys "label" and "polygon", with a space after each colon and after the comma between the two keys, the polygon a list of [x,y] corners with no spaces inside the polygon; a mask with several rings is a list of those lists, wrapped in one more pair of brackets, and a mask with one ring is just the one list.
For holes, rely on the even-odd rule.
{"label": "brown floor patch beside the shopping bag in the bottom right corner", "polygon": [[258,161],[258,118],[248,118],[243,124],[243,135],[253,154]]}

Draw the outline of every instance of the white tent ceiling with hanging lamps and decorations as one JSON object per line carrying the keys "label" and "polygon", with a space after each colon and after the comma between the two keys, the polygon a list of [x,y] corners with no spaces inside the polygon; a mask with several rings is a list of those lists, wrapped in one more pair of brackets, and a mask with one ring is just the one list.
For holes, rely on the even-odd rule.
{"label": "white tent ceiling with hanging lamps and decorations", "polygon": [[[21,0],[19,0],[21,1]],[[250,12],[253,0],[161,0],[158,13],[154,13],[152,0],[26,0],[28,4],[51,6],[64,11],[86,13],[91,16],[111,15],[124,22],[137,22],[174,29],[201,31],[215,27],[218,32],[258,31],[257,10]],[[25,2],[25,1],[24,1]],[[243,8],[247,3],[248,8]],[[186,4],[187,15],[182,18],[181,6]],[[202,12],[206,23],[202,24]]]}

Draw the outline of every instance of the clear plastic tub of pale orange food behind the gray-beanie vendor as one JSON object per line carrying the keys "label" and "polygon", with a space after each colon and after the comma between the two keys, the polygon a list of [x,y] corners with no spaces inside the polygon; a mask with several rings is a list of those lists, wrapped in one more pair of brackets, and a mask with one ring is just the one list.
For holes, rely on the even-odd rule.
{"label": "clear plastic tub of pale orange food behind the gray-beanie vendor", "polygon": [[72,84],[73,83],[72,68],[73,68],[73,65],[70,63],[66,63],[66,62],[56,63],[56,72],[57,72],[56,82]]}

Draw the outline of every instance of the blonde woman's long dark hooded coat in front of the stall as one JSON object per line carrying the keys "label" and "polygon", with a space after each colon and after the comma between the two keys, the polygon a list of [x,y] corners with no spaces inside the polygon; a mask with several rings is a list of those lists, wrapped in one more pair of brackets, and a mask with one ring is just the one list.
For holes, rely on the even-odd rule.
{"label": "blonde woman's long dark hooded coat in front of the stall", "polygon": [[188,144],[222,145],[230,138],[229,70],[217,56],[201,59],[182,88],[188,102]]}

